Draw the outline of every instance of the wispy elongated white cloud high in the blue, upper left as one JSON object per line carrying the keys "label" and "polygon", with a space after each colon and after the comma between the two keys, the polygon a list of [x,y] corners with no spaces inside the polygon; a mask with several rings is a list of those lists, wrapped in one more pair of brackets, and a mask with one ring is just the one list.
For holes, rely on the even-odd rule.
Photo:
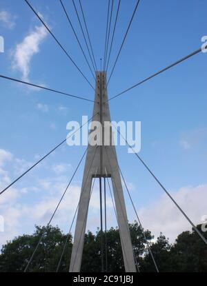
{"label": "wispy elongated white cloud high in the blue, upper left", "polygon": [[12,68],[19,70],[24,81],[29,81],[30,61],[34,54],[39,52],[39,45],[47,36],[46,28],[43,25],[35,26],[21,43],[18,43],[13,52]]}

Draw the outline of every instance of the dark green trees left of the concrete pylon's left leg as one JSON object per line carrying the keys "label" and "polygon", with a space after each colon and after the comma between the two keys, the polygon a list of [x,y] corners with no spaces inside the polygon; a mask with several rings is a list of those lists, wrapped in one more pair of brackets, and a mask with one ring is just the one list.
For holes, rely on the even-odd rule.
{"label": "dark green trees left of the concrete pylon's left leg", "polygon": [[[3,245],[0,255],[0,272],[23,272],[41,234],[44,234],[43,239],[28,267],[28,271],[55,272],[66,241],[66,235],[61,232],[59,227],[52,226],[47,229],[36,226],[34,234],[19,236]],[[68,261],[70,261],[71,249],[72,237],[70,236],[59,271],[69,269]]]}

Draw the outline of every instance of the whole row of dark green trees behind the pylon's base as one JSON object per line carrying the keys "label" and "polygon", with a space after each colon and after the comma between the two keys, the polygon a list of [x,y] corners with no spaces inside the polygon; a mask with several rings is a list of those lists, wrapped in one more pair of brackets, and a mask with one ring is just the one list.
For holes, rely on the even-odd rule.
{"label": "whole row of dark green trees behind the pylon's base", "polygon": [[[129,224],[129,227],[139,271],[155,272],[155,265],[141,227],[136,221]],[[197,227],[201,229],[200,225]],[[207,247],[194,229],[191,232],[179,234],[173,245],[169,243],[164,234],[160,234],[155,240],[149,230],[144,232],[160,272],[207,272]],[[3,245],[0,254],[0,272],[23,272],[42,234],[43,239],[28,271],[56,272],[67,234],[63,234],[59,227],[51,225],[47,228],[35,226],[33,234],[18,236]],[[204,233],[204,236],[207,238],[207,233]],[[107,241],[107,272],[124,272],[119,229],[111,227],[106,233],[103,232],[103,240],[105,239]],[[66,251],[61,259],[59,272],[68,272],[71,252],[72,235],[68,234]],[[106,265],[105,255],[104,264]],[[101,232],[97,229],[96,234],[90,231],[85,234],[81,272],[100,271]]]}

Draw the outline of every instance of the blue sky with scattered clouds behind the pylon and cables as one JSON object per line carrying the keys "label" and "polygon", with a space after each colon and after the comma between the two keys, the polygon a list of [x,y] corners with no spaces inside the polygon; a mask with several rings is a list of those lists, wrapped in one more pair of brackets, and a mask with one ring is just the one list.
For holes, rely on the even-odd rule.
{"label": "blue sky with scattered clouds behind the pylon and cables", "polygon": [[[82,2],[95,58],[100,66],[108,2]],[[59,1],[31,0],[30,3],[41,13],[57,39],[94,85]],[[83,43],[72,1],[63,3]],[[109,70],[117,56],[135,3],[132,0],[121,1]],[[140,1],[108,85],[108,96],[114,96],[197,50],[201,46],[201,37],[207,34],[206,8],[204,0]],[[5,52],[0,54],[1,74],[27,79],[88,99],[94,98],[90,85],[50,34],[46,33],[24,1],[1,1],[0,35],[5,39]],[[195,223],[199,223],[201,216],[207,214],[206,57],[207,54],[197,54],[110,101],[112,120],[141,121],[141,158]],[[37,161],[39,156],[66,138],[68,121],[81,122],[82,115],[91,116],[92,103],[34,90],[4,79],[0,79],[0,90],[2,188]],[[35,223],[46,224],[85,148],[60,147],[2,195],[0,215],[5,218],[6,231],[0,233],[0,243],[14,235],[32,232]],[[190,228],[136,157],[128,154],[126,147],[117,147],[117,154],[144,227],[152,230],[156,236],[164,232],[171,241],[179,232]],[[64,231],[74,212],[82,174],[83,165],[55,219],[55,224]],[[133,221],[135,214],[127,197],[126,206],[128,217]],[[99,226],[97,214],[99,200],[95,190],[87,226],[93,231]],[[116,225],[109,195],[108,214],[109,225]]]}

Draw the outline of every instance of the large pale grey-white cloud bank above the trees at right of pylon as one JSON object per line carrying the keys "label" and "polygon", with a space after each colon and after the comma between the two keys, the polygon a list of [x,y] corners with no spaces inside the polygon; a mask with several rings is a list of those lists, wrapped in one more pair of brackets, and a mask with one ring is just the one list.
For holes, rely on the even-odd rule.
{"label": "large pale grey-white cloud bank above the trees at right of pylon", "polygon": [[[195,225],[201,223],[201,218],[207,215],[207,185],[182,187],[170,194]],[[150,229],[155,236],[163,232],[171,242],[175,241],[178,234],[192,228],[166,194],[139,210],[139,217],[145,229]]]}

